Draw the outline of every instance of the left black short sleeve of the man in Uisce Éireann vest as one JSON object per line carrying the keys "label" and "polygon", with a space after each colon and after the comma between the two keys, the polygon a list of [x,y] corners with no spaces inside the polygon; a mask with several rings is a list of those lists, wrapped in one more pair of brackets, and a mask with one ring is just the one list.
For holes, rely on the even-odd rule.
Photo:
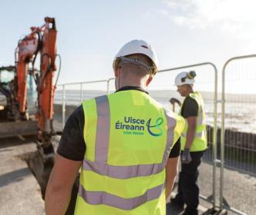
{"label": "left black short sleeve of the man in Uisce \u00c9ireann vest", "polygon": [[83,107],[80,105],[66,121],[57,153],[69,160],[83,160],[86,143],[83,139]]}

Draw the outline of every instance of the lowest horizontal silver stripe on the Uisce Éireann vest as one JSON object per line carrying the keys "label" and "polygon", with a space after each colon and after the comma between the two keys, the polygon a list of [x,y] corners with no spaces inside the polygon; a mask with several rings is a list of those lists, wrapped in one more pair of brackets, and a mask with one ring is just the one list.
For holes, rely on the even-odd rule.
{"label": "lowest horizontal silver stripe on the Uisce \u00c9ireann vest", "polygon": [[165,184],[160,184],[157,187],[153,187],[145,192],[145,194],[139,197],[133,198],[123,198],[117,197],[113,194],[108,194],[103,191],[89,191],[85,190],[80,184],[79,186],[79,196],[83,197],[86,203],[98,205],[105,204],[107,206],[120,208],[122,210],[133,210],[139,207],[143,203],[147,203],[150,200],[157,199],[163,192]]}

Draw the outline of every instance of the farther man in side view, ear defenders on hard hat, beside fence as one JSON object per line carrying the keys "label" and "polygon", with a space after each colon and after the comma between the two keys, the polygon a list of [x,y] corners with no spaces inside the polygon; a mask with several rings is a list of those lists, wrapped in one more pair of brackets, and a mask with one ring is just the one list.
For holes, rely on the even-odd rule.
{"label": "farther man in side view, ear defenders on hard hat, beside fence", "polygon": [[199,188],[197,177],[201,157],[207,149],[207,131],[204,115],[204,100],[199,92],[193,90],[194,71],[181,72],[175,78],[177,91],[184,98],[180,115],[186,120],[181,141],[181,171],[179,175],[178,194],[171,202],[179,207],[187,207],[184,214],[198,214]]}

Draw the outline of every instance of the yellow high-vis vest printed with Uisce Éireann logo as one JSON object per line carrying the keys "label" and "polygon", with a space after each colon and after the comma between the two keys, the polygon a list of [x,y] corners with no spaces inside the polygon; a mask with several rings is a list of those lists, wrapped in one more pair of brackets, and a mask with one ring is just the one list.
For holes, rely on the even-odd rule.
{"label": "yellow high-vis vest printed with Uisce \u00c9ireann logo", "polygon": [[184,130],[142,91],[83,102],[86,153],[75,214],[166,214],[165,166]]}

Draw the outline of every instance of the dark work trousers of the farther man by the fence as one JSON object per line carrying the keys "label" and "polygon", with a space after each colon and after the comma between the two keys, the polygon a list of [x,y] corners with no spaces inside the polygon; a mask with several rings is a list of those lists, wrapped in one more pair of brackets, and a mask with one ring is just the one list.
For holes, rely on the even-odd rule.
{"label": "dark work trousers of the farther man by the fence", "polygon": [[185,214],[194,215],[198,213],[199,188],[197,186],[197,177],[199,175],[198,167],[203,154],[204,151],[190,152],[191,162],[189,164],[181,164],[176,198],[180,203],[187,204]]}

